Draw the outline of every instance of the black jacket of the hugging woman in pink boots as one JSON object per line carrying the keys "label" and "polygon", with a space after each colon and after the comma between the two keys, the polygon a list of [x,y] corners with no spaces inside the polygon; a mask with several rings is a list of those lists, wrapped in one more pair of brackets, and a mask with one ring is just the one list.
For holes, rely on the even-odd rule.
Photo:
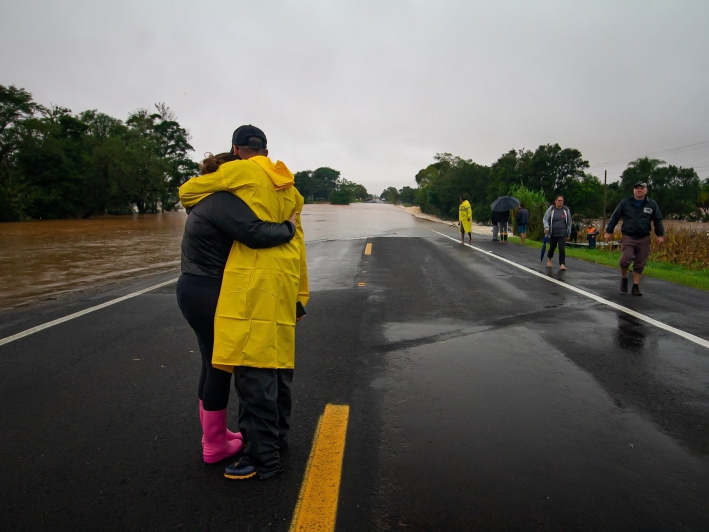
{"label": "black jacket of the hugging woman in pink boots", "polygon": [[187,209],[180,271],[222,277],[234,240],[252,249],[272,248],[290,242],[295,234],[289,221],[262,221],[234,194],[215,192]]}

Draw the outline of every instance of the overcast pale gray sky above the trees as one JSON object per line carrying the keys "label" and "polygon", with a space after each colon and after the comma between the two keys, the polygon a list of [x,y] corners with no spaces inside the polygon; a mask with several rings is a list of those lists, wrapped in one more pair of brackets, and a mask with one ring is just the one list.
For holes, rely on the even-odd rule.
{"label": "overcast pale gray sky above the trees", "polygon": [[0,84],[125,119],[164,101],[196,160],[262,128],[293,172],[415,187],[438,152],[578,148],[709,177],[709,2],[8,1]]}

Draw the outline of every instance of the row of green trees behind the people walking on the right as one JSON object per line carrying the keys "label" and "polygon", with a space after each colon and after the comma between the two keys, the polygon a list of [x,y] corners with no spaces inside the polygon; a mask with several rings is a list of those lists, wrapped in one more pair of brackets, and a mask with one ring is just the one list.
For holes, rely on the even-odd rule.
{"label": "row of green trees behind the people walking on the right", "polygon": [[490,204],[499,196],[523,187],[540,192],[551,204],[556,194],[564,196],[574,218],[608,218],[618,202],[632,195],[633,184],[645,181],[649,193],[667,218],[709,221],[709,179],[700,181],[693,168],[668,165],[642,157],[627,165],[619,182],[605,187],[590,174],[588,161],[575,148],[559,144],[540,145],[537,150],[510,150],[490,166],[479,165],[450,153],[438,153],[435,162],[415,176],[418,187],[393,187],[381,197],[390,202],[411,203],[421,211],[443,219],[458,216],[459,197],[467,196],[476,221],[488,222]]}

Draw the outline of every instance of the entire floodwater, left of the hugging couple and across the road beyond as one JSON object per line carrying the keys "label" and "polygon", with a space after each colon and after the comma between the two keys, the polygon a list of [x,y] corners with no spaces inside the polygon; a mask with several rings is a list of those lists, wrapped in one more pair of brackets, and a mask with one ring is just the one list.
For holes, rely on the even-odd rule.
{"label": "entire floodwater, left of the hugging couple and across the road beyond", "polygon": [[[166,212],[0,223],[0,309],[120,279],[177,276],[185,219]],[[306,205],[301,220],[306,242],[415,225],[413,216],[383,204]]]}

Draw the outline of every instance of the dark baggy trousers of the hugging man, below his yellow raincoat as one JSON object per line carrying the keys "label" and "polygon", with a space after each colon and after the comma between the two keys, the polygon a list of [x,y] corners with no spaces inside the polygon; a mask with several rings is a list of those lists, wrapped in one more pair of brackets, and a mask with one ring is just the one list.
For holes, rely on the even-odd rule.
{"label": "dark baggy trousers of the hugging man, below his yellow raincoat", "polygon": [[[261,478],[281,470],[280,451],[288,443],[293,370],[234,367],[239,394],[239,431],[244,436],[244,458]],[[241,462],[241,461],[240,461]]]}

